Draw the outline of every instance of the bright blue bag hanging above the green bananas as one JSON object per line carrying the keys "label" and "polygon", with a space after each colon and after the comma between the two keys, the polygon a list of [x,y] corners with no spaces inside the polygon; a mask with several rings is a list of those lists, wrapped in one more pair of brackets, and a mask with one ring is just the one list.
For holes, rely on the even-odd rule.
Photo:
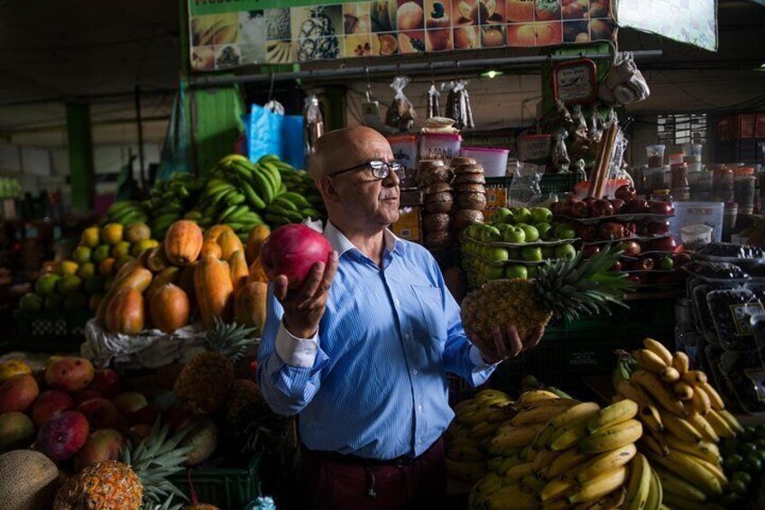
{"label": "bright blue bag hanging above the green bananas", "polygon": [[295,168],[305,167],[302,116],[277,115],[265,107],[253,105],[244,121],[250,161],[275,154]]}

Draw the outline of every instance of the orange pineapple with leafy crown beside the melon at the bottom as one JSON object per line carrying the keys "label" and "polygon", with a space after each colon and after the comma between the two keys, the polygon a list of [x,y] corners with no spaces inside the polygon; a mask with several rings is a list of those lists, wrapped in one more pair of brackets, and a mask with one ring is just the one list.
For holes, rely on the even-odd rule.
{"label": "orange pineapple with leafy crown beside the melon at the bottom", "polygon": [[166,478],[183,469],[190,449],[178,446],[185,432],[169,438],[169,430],[158,421],[146,440],[120,452],[120,461],[98,462],[69,478],[53,510],[139,510],[185,497]]}

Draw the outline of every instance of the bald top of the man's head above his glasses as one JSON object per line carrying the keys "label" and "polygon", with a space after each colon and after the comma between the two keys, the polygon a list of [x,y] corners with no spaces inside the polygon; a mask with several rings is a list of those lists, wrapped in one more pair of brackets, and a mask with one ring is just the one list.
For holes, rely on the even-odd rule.
{"label": "bald top of the man's head above his glasses", "polygon": [[330,131],[316,141],[315,150],[309,165],[314,181],[373,159],[392,161],[393,155],[385,137],[364,126]]}

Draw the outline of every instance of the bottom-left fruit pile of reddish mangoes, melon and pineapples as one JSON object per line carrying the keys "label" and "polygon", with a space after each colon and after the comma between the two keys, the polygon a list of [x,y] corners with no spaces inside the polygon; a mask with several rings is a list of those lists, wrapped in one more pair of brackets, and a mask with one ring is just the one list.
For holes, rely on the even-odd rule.
{"label": "bottom-left fruit pile of reddish mangoes, melon and pineapples", "polygon": [[[251,332],[220,328],[208,343],[232,355],[244,340],[252,342]],[[270,414],[257,385],[235,379],[232,361],[220,356],[199,354],[204,363],[192,358],[178,380],[177,400],[164,399],[162,406],[126,391],[114,370],[96,370],[85,358],[51,358],[40,374],[19,361],[0,364],[4,507],[187,508],[167,478],[233,448],[252,451],[242,448],[255,444],[251,426],[263,433]],[[213,386],[189,385],[197,376]],[[215,392],[215,407],[198,407],[199,400],[181,393],[189,390],[198,398]]]}

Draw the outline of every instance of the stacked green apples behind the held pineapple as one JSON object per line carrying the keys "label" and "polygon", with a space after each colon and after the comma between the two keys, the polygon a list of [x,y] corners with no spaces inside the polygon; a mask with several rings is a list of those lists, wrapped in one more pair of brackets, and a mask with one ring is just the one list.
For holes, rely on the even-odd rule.
{"label": "stacked green apples behind the held pineapple", "polygon": [[491,224],[474,223],[462,238],[462,267],[471,287],[503,278],[534,278],[545,260],[576,256],[576,233],[553,222],[550,209],[499,208]]}

